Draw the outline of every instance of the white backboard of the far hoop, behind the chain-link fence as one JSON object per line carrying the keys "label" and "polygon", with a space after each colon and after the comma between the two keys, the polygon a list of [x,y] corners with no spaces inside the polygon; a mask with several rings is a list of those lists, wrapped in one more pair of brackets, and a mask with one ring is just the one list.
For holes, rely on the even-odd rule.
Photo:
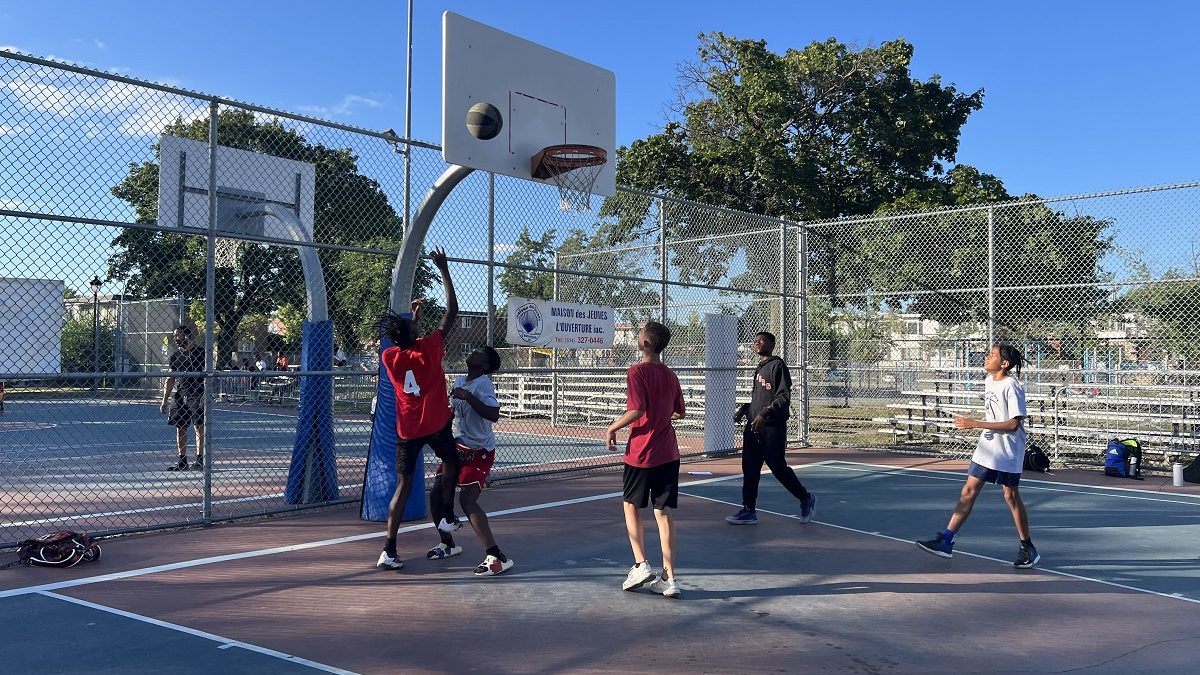
{"label": "white backboard of the far hoop, behind the chain-link fence", "polygon": [[[158,227],[208,232],[209,144],[162,136],[158,151]],[[263,153],[217,147],[217,231],[295,239],[276,219],[235,217],[253,204],[278,204],[292,210],[312,240],[317,169],[308,162]]]}

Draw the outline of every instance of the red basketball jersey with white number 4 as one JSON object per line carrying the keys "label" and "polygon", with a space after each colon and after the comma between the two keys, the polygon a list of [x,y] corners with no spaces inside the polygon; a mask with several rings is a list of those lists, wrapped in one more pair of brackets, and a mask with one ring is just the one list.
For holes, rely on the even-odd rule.
{"label": "red basketball jersey with white number 4", "polygon": [[446,374],[442,370],[445,336],[434,330],[402,350],[383,351],[388,380],[396,390],[396,434],[404,440],[421,438],[445,429],[450,422]]}

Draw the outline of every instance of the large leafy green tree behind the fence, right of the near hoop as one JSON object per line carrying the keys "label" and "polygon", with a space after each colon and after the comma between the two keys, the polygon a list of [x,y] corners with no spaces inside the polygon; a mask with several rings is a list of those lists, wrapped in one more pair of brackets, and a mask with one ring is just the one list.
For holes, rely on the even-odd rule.
{"label": "large leafy green tree behind the fence, right of the near hoop", "polygon": [[[860,299],[875,291],[940,321],[986,319],[985,294],[940,292],[985,286],[985,213],[833,220],[1013,201],[998,178],[954,166],[961,129],[983,106],[982,89],[960,92],[936,74],[913,78],[913,47],[904,40],[852,49],[830,38],[778,54],[764,41],[713,32],[700,37],[698,56],[682,68],[677,114],[664,130],[618,150],[622,184],[767,216],[832,221],[810,228],[808,240],[810,292],[827,297],[830,310],[878,310]],[[1045,205],[997,214],[998,285],[1100,277],[1108,222]],[[664,215],[672,239],[692,240],[672,246],[680,276],[713,282],[732,273],[738,287],[780,291],[779,246],[769,233],[704,240],[737,219],[688,217],[682,208]],[[623,220],[630,239],[646,232],[644,214]],[[728,222],[714,222],[721,220]],[[1043,294],[1042,301],[1013,294],[996,319],[1015,328],[1061,313],[1072,293]],[[1088,316],[1098,297],[1074,304],[1074,316]],[[769,324],[778,328],[775,313]],[[832,357],[845,358],[842,336],[829,338]]]}

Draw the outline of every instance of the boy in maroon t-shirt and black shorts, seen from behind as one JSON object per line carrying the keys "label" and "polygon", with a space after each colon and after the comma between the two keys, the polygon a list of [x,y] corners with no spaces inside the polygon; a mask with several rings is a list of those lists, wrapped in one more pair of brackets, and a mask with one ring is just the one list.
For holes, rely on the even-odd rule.
{"label": "boy in maroon t-shirt and black shorts, seen from behind", "polygon": [[[625,531],[634,549],[634,567],[622,589],[632,591],[646,583],[650,590],[668,598],[679,597],[674,568],[674,516],[679,501],[679,442],[672,420],[683,419],[683,389],[674,371],[662,363],[662,350],[671,342],[671,331],[656,321],[646,323],[637,334],[641,363],[625,375],[625,414],[608,425],[608,449],[617,449],[617,431],[629,426],[625,447]],[[646,560],[642,544],[644,527],[640,509],[654,504],[662,548],[662,574],[655,575]]]}

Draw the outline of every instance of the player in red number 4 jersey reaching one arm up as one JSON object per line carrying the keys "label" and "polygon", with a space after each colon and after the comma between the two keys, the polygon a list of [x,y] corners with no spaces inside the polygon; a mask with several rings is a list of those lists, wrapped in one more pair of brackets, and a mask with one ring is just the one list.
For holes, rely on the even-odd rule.
{"label": "player in red number 4 jersey reaching one arm up", "polygon": [[[420,300],[413,301],[413,317],[391,312],[383,319],[383,329],[395,346],[383,351],[380,359],[388,370],[388,378],[396,390],[396,491],[388,506],[388,542],[379,554],[379,569],[400,569],[404,566],[396,555],[396,532],[404,516],[404,506],[413,491],[413,472],[421,448],[428,446],[442,460],[445,471],[439,477],[444,483],[445,500],[438,530],[454,532],[462,527],[454,514],[454,489],[458,477],[458,452],[450,429],[450,398],[446,395],[446,374],[442,369],[445,356],[445,336],[458,316],[458,297],[450,281],[450,265],[442,247],[433,250],[433,264],[442,273],[442,285],[446,289],[446,313],[437,329],[419,338],[416,321],[421,315]],[[422,467],[424,471],[424,467]]]}

